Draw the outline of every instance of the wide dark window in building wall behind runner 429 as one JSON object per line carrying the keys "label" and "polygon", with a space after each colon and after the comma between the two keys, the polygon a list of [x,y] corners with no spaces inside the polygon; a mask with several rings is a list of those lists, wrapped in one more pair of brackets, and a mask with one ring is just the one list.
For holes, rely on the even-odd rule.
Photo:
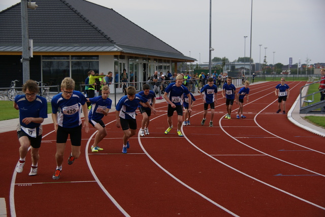
{"label": "wide dark window in building wall behind runner 429", "polygon": [[80,90],[90,70],[99,73],[99,56],[42,56],[43,82],[49,85],[60,85],[64,78],[71,76],[76,82],[75,89]]}

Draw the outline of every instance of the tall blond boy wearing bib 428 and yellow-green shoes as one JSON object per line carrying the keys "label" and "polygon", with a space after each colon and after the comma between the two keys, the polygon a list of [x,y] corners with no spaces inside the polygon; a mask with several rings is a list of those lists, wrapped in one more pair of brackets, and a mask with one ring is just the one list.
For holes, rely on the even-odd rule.
{"label": "tall blond boy wearing bib 428 and yellow-green shoes", "polygon": [[[168,85],[168,87],[165,90],[164,93],[164,99],[168,103],[168,112],[167,112],[167,121],[169,127],[165,131],[165,134],[168,134],[171,129],[173,128],[173,114],[174,111],[177,112],[177,134],[178,136],[183,136],[181,132],[181,127],[183,123],[183,107],[182,107],[182,101],[183,101],[183,94],[185,93],[188,97],[188,104],[192,104],[191,95],[189,94],[188,89],[182,85],[183,83],[183,76],[178,75],[176,77],[176,82],[171,83]],[[169,94],[169,97],[168,97]],[[191,112],[191,108],[188,108],[188,112]]]}

